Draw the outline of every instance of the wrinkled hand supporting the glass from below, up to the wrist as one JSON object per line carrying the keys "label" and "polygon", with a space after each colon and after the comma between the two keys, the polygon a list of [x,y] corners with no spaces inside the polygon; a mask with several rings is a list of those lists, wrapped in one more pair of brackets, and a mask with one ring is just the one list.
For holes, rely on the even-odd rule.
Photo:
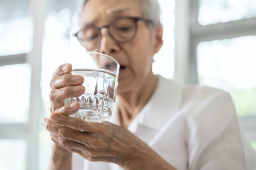
{"label": "wrinkled hand supporting the glass from below, up to the wrist", "polygon": [[50,115],[51,120],[44,119],[42,123],[50,131],[53,142],[70,152],[76,152],[90,161],[112,162],[124,166],[134,158],[138,147],[148,147],[123,127],[69,117],[72,114],[69,109],[65,105],[57,110],[61,113],[53,113]]}

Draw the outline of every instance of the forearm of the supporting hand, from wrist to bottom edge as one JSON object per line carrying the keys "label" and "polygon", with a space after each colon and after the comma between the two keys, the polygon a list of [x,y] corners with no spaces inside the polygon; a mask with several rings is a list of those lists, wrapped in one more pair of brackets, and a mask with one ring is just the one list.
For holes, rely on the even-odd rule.
{"label": "forearm of the supporting hand, from wrist to bottom edge", "polygon": [[133,157],[122,166],[125,170],[176,170],[149,146],[135,150]]}

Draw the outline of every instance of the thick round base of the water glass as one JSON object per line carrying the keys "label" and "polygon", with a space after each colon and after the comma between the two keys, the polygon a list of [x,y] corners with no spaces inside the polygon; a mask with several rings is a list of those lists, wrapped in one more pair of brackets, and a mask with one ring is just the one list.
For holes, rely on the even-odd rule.
{"label": "thick round base of the water glass", "polygon": [[92,109],[79,109],[72,117],[78,117],[87,122],[102,122],[108,120],[110,117],[106,112]]}

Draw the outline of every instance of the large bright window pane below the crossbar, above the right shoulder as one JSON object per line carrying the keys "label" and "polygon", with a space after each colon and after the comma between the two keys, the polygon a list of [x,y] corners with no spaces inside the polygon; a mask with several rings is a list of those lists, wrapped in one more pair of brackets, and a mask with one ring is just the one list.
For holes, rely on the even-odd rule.
{"label": "large bright window pane below the crossbar, above the right shoulder", "polygon": [[201,85],[231,94],[239,116],[256,116],[256,36],[201,42],[197,46]]}

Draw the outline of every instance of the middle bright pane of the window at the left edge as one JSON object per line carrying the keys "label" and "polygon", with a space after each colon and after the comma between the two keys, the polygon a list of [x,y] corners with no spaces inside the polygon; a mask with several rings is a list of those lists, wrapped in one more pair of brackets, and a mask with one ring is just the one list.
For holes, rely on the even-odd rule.
{"label": "middle bright pane of the window at the left edge", "polygon": [[0,124],[26,122],[30,99],[30,65],[1,66],[0,73]]}

